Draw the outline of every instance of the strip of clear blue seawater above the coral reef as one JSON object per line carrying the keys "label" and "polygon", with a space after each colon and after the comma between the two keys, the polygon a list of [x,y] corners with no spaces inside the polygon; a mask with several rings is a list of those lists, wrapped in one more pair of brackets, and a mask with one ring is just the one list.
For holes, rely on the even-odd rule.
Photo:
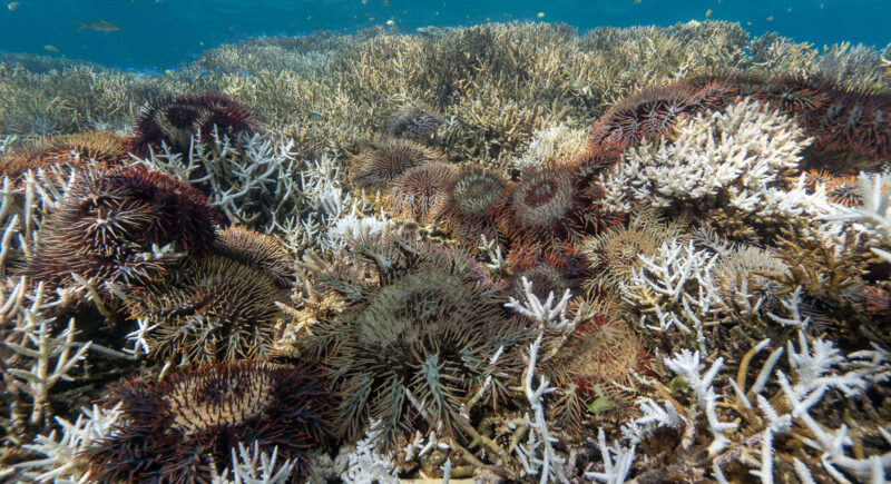
{"label": "strip of clear blue seawater above the coral reef", "polygon": [[[0,6],[0,51],[82,59],[118,68],[166,69],[202,50],[258,36],[354,32],[388,21],[419,27],[489,21],[595,27],[669,26],[691,19],[740,22],[752,34],[779,32],[816,47],[884,47],[889,0],[18,0]],[[78,30],[105,20],[114,32]],[[58,52],[49,52],[52,46]]]}

